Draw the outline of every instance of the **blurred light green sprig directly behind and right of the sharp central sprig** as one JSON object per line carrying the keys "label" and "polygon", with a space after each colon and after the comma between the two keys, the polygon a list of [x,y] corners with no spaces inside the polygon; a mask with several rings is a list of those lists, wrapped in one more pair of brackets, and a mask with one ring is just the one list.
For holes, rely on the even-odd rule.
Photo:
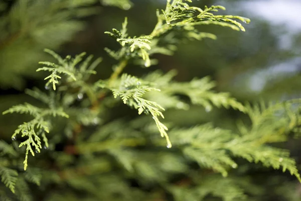
{"label": "blurred light green sprig directly behind and right of the sharp central sprig", "polygon": [[190,82],[176,82],[172,80],[176,74],[176,71],[172,70],[166,74],[155,71],[146,75],[145,80],[161,89],[160,93],[149,93],[148,98],[157,99],[164,107],[187,110],[189,105],[179,99],[179,94],[181,94],[188,96],[191,104],[203,106],[206,112],[210,112],[213,106],[246,112],[245,106],[231,97],[229,93],[214,91],[216,83],[208,76],[201,79],[194,78]]}

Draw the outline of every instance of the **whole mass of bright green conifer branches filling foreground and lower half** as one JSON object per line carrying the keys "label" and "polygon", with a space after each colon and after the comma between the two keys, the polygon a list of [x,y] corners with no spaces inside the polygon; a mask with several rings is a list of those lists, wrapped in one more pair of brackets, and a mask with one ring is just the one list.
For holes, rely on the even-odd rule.
{"label": "whole mass of bright green conifer branches filling foreground and lower half", "polygon": [[[67,12],[68,18],[70,6],[78,11],[94,3],[60,2],[56,2],[59,11]],[[131,6],[129,1],[101,2],[124,10]],[[91,62],[93,56],[85,58],[85,53],[62,58],[45,49],[57,60],[40,62],[43,66],[37,69],[37,74],[48,73],[46,92],[37,87],[25,91],[41,103],[16,105],[3,112],[32,119],[17,127],[12,145],[0,141],[2,182],[15,193],[0,186],[1,199],[41,199],[28,184],[33,183],[35,190],[36,185],[41,187],[43,200],[167,200],[167,196],[175,200],[256,200],[262,191],[250,178],[241,176],[248,167],[245,163],[288,171],[301,182],[295,160],[275,144],[298,131],[300,99],[241,104],[229,93],[216,91],[209,76],[179,82],[174,79],[175,70],[148,72],[141,78],[123,73],[128,64],[155,64],[154,54],[172,55],[182,40],[216,38],[199,32],[198,25],[245,31],[236,20],[249,22],[212,13],[224,10],[222,6],[201,9],[189,3],[192,1],[168,0],[166,9],[157,11],[158,23],[149,35],[129,37],[127,18],[120,31],[105,32],[120,45],[116,51],[105,49],[118,61],[107,79],[91,77],[100,58]],[[128,110],[119,113],[124,105],[137,110],[139,116],[131,116]],[[183,127],[172,121],[172,115],[162,123],[161,118],[172,111],[178,112],[181,121],[188,118],[181,112],[192,112],[193,107],[200,116],[225,108],[241,113],[242,118],[233,128],[201,121]],[[25,152],[24,161],[19,152]],[[29,153],[35,156],[32,161]]]}

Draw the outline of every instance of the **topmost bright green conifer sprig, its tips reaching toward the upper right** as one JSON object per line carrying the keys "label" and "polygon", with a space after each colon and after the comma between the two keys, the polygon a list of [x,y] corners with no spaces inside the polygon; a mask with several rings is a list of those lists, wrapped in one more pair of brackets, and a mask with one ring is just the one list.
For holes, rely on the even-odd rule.
{"label": "topmost bright green conifer sprig, its tips reaching toward the upper right", "polygon": [[[192,1],[187,2],[191,3]],[[126,32],[127,19],[125,19],[120,31],[113,29],[113,33],[105,32],[115,38],[122,48],[117,52],[108,48],[105,50],[117,60],[120,58],[126,60],[141,58],[144,61],[144,66],[149,67],[152,65],[149,59],[150,55],[156,53],[170,55],[174,51],[175,46],[171,44],[172,40],[170,40],[170,36],[168,35],[174,30],[183,33],[181,38],[194,38],[197,40],[203,38],[216,39],[216,36],[213,34],[199,32],[196,29],[198,25],[214,24],[230,27],[237,31],[245,31],[243,26],[233,19],[238,19],[245,23],[249,23],[249,19],[240,16],[221,16],[210,13],[218,11],[218,9],[225,10],[222,6],[205,7],[202,10],[197,7],[191,7],[189,4],[184,3],[183,0],[168,1],[166,9],[162,10],[162,13],[159,10],[157,11],[158,23],[152,33],[139,37],[128,37]],[[160,47],[159,43],[165,43],[165,47]]]}

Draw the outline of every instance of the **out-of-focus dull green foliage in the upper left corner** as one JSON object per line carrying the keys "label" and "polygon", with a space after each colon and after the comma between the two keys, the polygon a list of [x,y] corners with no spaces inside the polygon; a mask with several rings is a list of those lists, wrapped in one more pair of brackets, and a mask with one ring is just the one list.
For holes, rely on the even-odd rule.
{"label": "out-of-focus dull green foliage in the upper left corner", "polygon": [[[22,76],[33,76],[28,69],[44,57],[45,47],[57,49],[80,30],[82,18],[99,12],[97,0],[15,1],[9,12],[0,16],[0,83],[21,88]],[[47,40],[45,40],[47,38]],[[16,58],[24,59],[16,59]]]}

